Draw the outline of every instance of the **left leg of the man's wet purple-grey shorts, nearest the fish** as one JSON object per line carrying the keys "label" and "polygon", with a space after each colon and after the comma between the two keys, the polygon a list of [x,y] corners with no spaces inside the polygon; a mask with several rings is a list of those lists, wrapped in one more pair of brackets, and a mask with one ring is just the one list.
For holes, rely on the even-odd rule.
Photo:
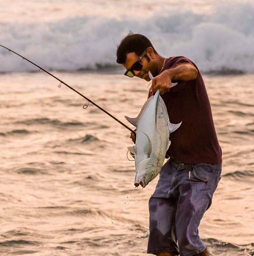
{"label": "left leg of the man's wet purple-grey shorts, nearest the fish", "polygon": [[163,165],[156,189],[149,200],[150,234],[147,253],[179,255],[175,231],[176,199],[169,195],[171,179],[176,171],[177,167],[170,160]]}

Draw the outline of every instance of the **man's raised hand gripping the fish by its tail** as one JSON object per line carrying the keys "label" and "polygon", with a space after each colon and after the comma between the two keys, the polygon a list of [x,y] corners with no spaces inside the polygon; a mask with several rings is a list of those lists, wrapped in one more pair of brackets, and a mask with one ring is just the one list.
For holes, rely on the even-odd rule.
{"label": "man's raised hand gripping the fish by its tail", "polygon": [[160,90],[160,95],[169,91],[171,87],[171,77],[167,72],[162,72],[161,74],[155,76],[152,79],[151,89],[153,92]]}

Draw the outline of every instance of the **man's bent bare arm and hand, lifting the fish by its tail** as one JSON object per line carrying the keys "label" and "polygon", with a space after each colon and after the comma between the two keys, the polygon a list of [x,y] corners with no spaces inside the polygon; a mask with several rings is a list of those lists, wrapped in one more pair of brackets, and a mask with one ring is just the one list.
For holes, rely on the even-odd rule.
{"label": "man's bent bare arm and hand, lifting the fish by its tail", "polygon": [[174,68],[166,69],[152,80],[153,92],[160,90],[160,94],[169,91],[172,81],[189,81],[197,77],[198,71],[192,64],[178,64]]}

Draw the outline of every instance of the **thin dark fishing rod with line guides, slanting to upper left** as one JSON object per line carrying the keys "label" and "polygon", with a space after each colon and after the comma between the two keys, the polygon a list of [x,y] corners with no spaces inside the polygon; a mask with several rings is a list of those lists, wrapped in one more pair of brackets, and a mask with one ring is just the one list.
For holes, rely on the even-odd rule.
{"label": "thin dark fishing rod with line guides, slanting to upper left", "polygon": [[[61,87],[61,84],[64,84],[65,86],[67,86],[68,88],[70,88],[71,90],[73,90],[74,92],[76,92],[77,94],[79,94],[81,97],[83,97],[84,99],[86,99],[88,102],[92,103],[95,107],[98,107],[99,109],[101,109],[104,113],[106,113],[107,115],[109,115],[110,117],[112,117],[115,121],[117,121],[118,123],[120,123],[122,126],[124,126],[125,128],[127,128],[129,131],[133,132],[134,134],[136,134],[136,132],[134,130],[132,130],[131,128],[129,128],[127,125],[125,125],[123,122],[121,122],[120,120],[118,120],[116,117],[114,117],[113,115],[111,115],[110,113],[108,113],[105,109],[103,109],[102,107],[100,107],[99,105],[97,105],[96,103],[94,103],[93,101],[91,101],[90,99],[88,99],[86,96],[84,96],[83,94],[81,94],[80,92],[78,92],[77,90],[75,90],[74,88],[72,88],[71,86],[69,86],[68,84],[66,84],[64,81],[62,81],[61,79],[57,78],[56,76],[52,75],[50,72],[48,72],[47,70],[45,70],[44,68],[42,68],[41,66],[29,61],[28,59],[26,59],[25,57],[23,57],[22,55],[12,51],[11,49],[0,45],[3,48],[7,49],[9,52],[13,52],[16,55],[20,56],[21,58],[23,58],[23,60],[26,60],[28,62],[30,62],[31,64],[37,66],[38,68],[40,68],[40,70],[43,70],[44,72],[48,73],[49,75],[53,76],[55,79],[57,79],[60,84],[58,87]],[[39,71],[40,71],[39,70]],[[83,108],[87,108],[88,105],[84,105]]]}

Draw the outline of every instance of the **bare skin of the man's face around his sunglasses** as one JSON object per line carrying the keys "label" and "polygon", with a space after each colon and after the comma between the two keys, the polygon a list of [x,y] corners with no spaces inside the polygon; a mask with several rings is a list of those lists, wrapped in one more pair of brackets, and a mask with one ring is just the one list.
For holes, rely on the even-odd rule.
{"label": "bare skin of the man's face around his sunglasses", "polygon": [[[123,64],[123,66],[126,69],[129,69],[132,67],[132,65],[139,60],[139,57],[136,53],[127,53],[126,54],[126,62]],[[140,63],[143,65],[141,70],[133,70],[135,76],[145,79],[146,81],[150,81],[150,77],[148,75],[148,71],[150,71],[149,67],[150,67],[150,62],[148,63],[148,60],[146,57],[143,57],[140,60]]]}

